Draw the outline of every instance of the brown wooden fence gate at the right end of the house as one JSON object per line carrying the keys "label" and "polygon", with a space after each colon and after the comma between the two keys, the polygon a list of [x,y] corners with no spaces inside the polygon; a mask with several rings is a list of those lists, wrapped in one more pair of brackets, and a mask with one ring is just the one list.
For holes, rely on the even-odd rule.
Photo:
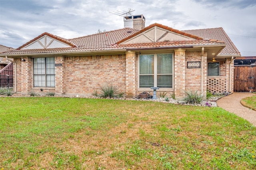
{"label": "brown wooden fence gate at the right end of the house", "polygon": [[234,67],[234,92],[256,91],[256,66]]}

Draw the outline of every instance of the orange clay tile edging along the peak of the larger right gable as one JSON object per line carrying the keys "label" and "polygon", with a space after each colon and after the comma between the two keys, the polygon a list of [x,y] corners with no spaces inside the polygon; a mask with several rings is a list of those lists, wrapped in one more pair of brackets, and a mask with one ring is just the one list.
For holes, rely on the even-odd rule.
{"label": "orange clay tile edging along the peak of the larger right gable", "polygon": [[135,37],[135,36],[137,36],[138,34],[144,32],[144,31],[146,31],[146,30],[149,30],[150,28],[153,28],[153,27],[155,27],[155,26],[160,27],[160,28],[163,28],[163,29],[166,29],[166,30],[169,30],[169,31],[171,31],[171,32],[175,32],[175,33],[177,33],[177,34],[182,34],[182,35],[184,35],[184,36],[191,37],[191,38],[194,38],[194,39],[197,39],[197,40],[203,40],[203,38],[201,38],[201,37],[199,37],[199,36],[195,36],[195,35],[192,35],[192,34],[188,34],[188,33],[186,33],[186,32],[182,32],[182,31],[173,29],[173,28],[171,28],[171,27],[168,27],[168,26],[164,26],[164,25],[162,25],[162,24],[155,23],[155,24],[151,24],[150,26],[145,27],[144,29],[142,29],[142,30],[136,32],[135,34],[133,34],[133,35],[131,35],[131,36],[128,36],[128,37],[126,37],[126,38],[124,38],[124,39],[118,41],[117,44],[120,44],[120,43],[122,43],[122,42],[125,42],[126,40],[129,40],[130,38]]}

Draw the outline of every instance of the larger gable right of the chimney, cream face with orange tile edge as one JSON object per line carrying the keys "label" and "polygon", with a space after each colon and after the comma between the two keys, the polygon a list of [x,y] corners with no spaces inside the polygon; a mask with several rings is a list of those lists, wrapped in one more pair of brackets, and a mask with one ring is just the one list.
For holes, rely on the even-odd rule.
{"label": "larger gable right of the chimney, cream face with orange tile edge", "polygon": [[118,42],[118,44],[188,41],[198,39],[202,40],[202,38],[197,36],[186,34],[170,27],[162,26],[161,24],[152,24],[138,32],[138,34],[134,34],[133,36]]}

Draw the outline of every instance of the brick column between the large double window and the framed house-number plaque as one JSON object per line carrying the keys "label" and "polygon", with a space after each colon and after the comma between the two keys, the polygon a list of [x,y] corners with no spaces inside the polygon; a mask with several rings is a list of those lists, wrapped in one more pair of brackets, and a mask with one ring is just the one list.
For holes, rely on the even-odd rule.
{"label": "brick column between the large double window and the framed house-number plaque", "polygon": [[184,96],[186,65],[185,51],[186,49],[174,50],[174,94],[177,99]]}

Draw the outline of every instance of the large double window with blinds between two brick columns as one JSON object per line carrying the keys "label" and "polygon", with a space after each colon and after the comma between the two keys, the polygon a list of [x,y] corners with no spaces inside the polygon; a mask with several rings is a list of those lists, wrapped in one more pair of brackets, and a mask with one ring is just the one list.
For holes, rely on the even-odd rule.
{"label": "large double window with blinds between two brick columns", "polygon": [[139,63],[140,88],[172,88],[172,54],[140,55]]}

